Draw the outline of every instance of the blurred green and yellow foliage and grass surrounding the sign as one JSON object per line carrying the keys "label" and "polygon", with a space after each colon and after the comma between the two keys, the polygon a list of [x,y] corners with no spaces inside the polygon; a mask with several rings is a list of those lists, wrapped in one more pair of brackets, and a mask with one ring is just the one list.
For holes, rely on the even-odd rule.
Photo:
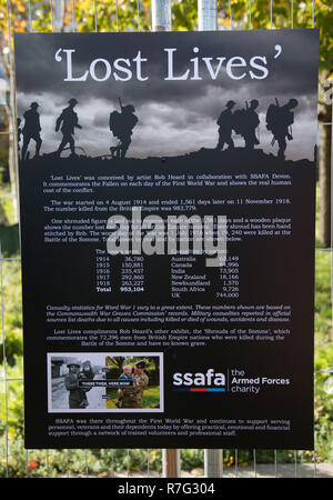
{"label": "blurred green and yellow foliage and grass surrounding the sign", "polygon": [[[251,3],[251,12],[249,4]],[[9,81],[12,68],[13,31],[147,31],[151,29],[148,0],[0,0],[0,68]],[[321,99],[333,71],[332,0],[219,0],[218,29],[312,28],[321,30]],[[9,29],[8,29],[9,28]],[[172,2],[172,29],[196,30],[196,1]],[[13,96],[0,104],[0,132],[14,130],[11,123]],[[321,102],[319,103],[321,104]],[[10,141],[0,134],[0,238],[6,243],[1,264],[0,346],[0,477],[56,477],[63,474],[108,476],[119,471],[161,472],[161,450],[30,450],[23,448],[23,360],[21,274],[12,189],[9,172]],[[9,182],[11,180],[11,183]],[[317,208],[323,200],[317,197]],[[4,229],[3,229],[4,228]],[[321,243],[317,240],[317,247]],[[301,251],[301,249],[300,249]],[[333,462],[333,346],[332,346],[332,251],[316,252],[315,273],[315,459]],[[6,353],[6,359],[4,358]],[[311,461],[312,452],[256,450],[256,463]],[[223,450],[228,468],[253,461],[253,450]],[[202,473],[203,450],[181,450],[183,470]],[[200,472],[201,471],[201,472]]]}

